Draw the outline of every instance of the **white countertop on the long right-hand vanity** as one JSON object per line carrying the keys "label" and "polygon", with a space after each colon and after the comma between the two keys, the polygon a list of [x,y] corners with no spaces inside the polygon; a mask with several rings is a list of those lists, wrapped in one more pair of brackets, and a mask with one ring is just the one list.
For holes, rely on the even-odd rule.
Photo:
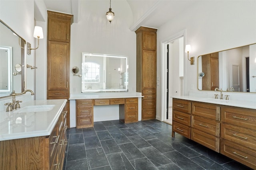
{"label": "white countertop on the long right-hand vanity", "polygon": [[235,106],[235,107],[256,109],[256,100],[255,101],[225,100],[225,99],[220,100],[220,99],[214,99],[214,98],[205,98],[202,96],[172,96],[172,98],[219,104],[224,106]]}

